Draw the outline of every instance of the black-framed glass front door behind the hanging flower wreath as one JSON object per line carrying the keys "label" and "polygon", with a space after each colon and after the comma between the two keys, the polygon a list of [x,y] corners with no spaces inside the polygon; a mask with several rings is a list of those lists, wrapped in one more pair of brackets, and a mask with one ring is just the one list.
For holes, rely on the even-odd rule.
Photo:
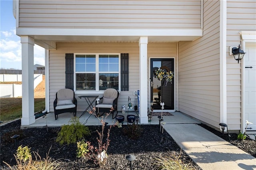
{"label": "black-framed glass front door behind the hanging flower wreath", "polygon": [[174,73],[174,58],[150,59],[150,101],[154,110],[162,109],[161,102],[164,102],[164,110],[174,110],[174,77],[172,82],[159,80],[154,74],[159,68]]}

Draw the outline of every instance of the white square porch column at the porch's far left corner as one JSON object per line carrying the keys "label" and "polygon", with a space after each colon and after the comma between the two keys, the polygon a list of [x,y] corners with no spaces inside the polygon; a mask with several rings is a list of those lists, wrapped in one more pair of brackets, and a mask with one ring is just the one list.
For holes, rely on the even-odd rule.
{"label": "white square porch column at the porch's far left corner", "polygon": [[20,37],[22,47],[22,118],[21,125],[31,125],[34,116],[34,39]]}

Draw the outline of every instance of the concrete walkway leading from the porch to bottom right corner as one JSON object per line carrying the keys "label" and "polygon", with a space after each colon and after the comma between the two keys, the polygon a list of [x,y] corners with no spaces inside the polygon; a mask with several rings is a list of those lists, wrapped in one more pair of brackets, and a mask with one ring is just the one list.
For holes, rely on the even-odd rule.
{"label": "concrete walkway leading from the porch to bottom right corner", "polygon": [[164,129],[203,170],[256,170],[256,158],[197,124],[166,124]]}

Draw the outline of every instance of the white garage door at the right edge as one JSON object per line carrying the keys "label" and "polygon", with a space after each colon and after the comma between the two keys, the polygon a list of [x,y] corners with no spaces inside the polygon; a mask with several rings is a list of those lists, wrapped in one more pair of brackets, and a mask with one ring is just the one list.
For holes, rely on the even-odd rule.
{"label": "white garage door at the right edge", "polygon": [[253,123],[248,130],[256,131],[256,42],[245,49],[245,120]]}

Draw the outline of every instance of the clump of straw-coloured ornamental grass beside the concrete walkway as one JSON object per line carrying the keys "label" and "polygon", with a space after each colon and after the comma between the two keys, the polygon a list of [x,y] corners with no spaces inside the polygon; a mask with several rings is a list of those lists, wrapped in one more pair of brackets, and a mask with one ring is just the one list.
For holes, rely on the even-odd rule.
{"label": "clump of straw-coloured ornamental grass beside the concrete walkway", "polygon": [[156,165],[158,170],[195,170],[193,166],[185,164],[180,158],[181,152],[179,155],[173,153],[168,153],[169,156],[156,158]]}

